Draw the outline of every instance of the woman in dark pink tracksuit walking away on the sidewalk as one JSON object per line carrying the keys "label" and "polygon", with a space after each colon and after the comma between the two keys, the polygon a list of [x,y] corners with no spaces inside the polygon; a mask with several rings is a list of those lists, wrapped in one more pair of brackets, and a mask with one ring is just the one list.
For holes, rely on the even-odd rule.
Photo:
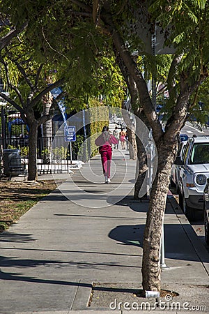
{"label": "woman in dark pink tracksuit walking away on the sidewalk", "polygon": [[111,144],[118,144],[118,140],[114,135],[109,133],[108,126],[104,126],[102,134],[95,140],[95,144],[99,146],[99,152],[102,160],[102,170],[104,174],[104,183],[110,182],[110,165],[111,165]]}

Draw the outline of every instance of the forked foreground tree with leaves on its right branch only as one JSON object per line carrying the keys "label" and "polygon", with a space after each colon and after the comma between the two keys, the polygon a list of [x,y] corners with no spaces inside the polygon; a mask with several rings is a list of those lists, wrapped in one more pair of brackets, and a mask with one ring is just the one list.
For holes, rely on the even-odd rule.
{"label": "forked foreground tree with leaves on its right branch only", "polygon": [[[162,130],[155,107],[150,100],[146,81],[139,71],[137,63],[134,62],[131,51],[125,43],[123,33],[118,29],[116,14],[113,14],[114,11],[112,6],[109,5],[109,1],[105,1],[100,10],[100,17],[105,29],[111,34],[116,50],[121,55],[121,59],[123,59],[129,74],[137,84],[140,104],[153,130],[153,137],[157,147],[157,174],[150,194],[150,206],[144,232],[142,264],[144,290],[154,291],[160,291],[160,239],[169,186],[169,174],[176,156],[177,135],[187,119],[189,97],[208,75],[208,57],[206,57],[206,51],[208,51],[208,31],[204,30],[206,27],[205,23],[208,21],[208,4],[205,1],[196,3],[195,11],[194,9],[192,10],[192,2],[189,3],[189,6],[188,3],[184,6],[183,2],[181,6],[178,6],[177,3],[173,8],[167,8],[165,3],[163,4],[164,6],[162,1],[160,3],[159,1],[153,1],[150,12],[158,13],[158,15],[153,14],[153,16],[148,15],[148,17],[152,19],[151,22],[155,22],[155,19],[158,17],[160,22],[164,19],[167,25],[172,23],[175,25],[175,29],[174,31],[171,29],[169,33],[170,38],[167,41],[171,43],[172,40],[173,44],[176,43],[176,54],[173,55],[167,80],[170,96],[168,105],[172,103],[172,107],[165,130]],[[169,15],[169,23],[168,16],[165,19],[165,13],[161,13],[161,8],[164,7],[167,8],[165,10],[166,13],[168,10],[169,12],[171,10],[171,13],[167,14]],[[132,12],[136,8],[126,9]],[[142,10],[139,12],[139,15],[141,13]],[[135,21],[137,23],[137,18]],[[187,32],[183,32],[185,27],[187,27]],[[192,40],[194,33],[199,36],[198,42]]]}

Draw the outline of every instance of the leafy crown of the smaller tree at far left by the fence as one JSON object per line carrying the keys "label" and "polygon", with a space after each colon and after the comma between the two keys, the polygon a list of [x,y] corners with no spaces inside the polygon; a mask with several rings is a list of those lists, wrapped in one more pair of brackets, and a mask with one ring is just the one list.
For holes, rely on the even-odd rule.
{"label": "leafy crown of the smaller tree at far left by the fence", "polygon": [[[1,51],[0,70],[3,82],[10,82],[7,85],[10,99],[23,109],[30,98],[36,98],[49,83],[59,79],[59,73],[52,69],[52,64],[46,59],[42,64],[37,61],[36,50],[27,41],[25,31],[18,38],[13,38],[10,45]],[[39,107],[42,110],[42,104]]]}

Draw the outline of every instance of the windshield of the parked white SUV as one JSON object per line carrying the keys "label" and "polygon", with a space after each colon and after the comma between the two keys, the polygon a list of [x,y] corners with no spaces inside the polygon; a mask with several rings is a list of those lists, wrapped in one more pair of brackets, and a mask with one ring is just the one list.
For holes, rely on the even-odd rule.
{"label": "windshield of the parked white SUV", "polygon": [[190,164],[209,163],[209,143],[194,144]]}

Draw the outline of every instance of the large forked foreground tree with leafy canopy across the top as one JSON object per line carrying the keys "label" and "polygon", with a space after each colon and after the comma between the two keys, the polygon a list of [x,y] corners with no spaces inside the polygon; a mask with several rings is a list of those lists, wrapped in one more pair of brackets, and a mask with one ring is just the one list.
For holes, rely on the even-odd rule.
{"label": "large forked foreground tree with leafy canopy across the top", "polygon": [[[121,73],[123,73],[124,79],[129,77],[130,84],[136,86],[136,99],[139,103],[136,110],[144,114],[152,128],[158,154],[157,174],[150,193],[150,205],[144,232],[143,288],[144,291],[160,291],[160,239],[171,165],[176,157],[177,137],[191,108],[189,99],[208,76],[208,2],[206,0],[188,0],[174,1],[170,4],[167,0],[141,1],[140,3],[136,0],[95,0],[92,3],[92,1],[71,0],[62,3],[60,7],[59,3],[55,3],[56,1],[54,3],[51,1],[48,6],[47,1],[40,2],[41,9],[40,6],[33,6],[33,8],[22,6],[22,10],[24,10],[24,19],[29,22],[30,29],[36,25],[40,29],[40,33],[41,29],[47,30],[47,36],[42,37],[42,46],[45,50],[45,37],[50,38],[55,24],[64,20],[59,27],[62,37],[70,38],[70,40],[66,40],[68,44],[64,43],[63,45],[63,40],[57,38],[57,47],[62,54],[64,52],[68,56],[72,56],[70,45],[78,47],[79,45],[72,43],[75,43],[73,40],[76,40],[77,43],[80,41],[85,50],[77,50],[79,56],[77,65],[80,66],[84,60],[82,55],[86,54],[88,56],[86,73],[89,75],[89,68],[91,68],[89,63],[95,62],[95,54],[98,54],[98,49],[101,48],[101,45],[95,45],[95,41],[98,43],[102,38],[102,43],[105,43],[104,47],[114,52],[116,63],[118,60],[123,63]],[[8,1],[6,3],[9,7],[10,3]],[[65,10],[63,10],[63,5]],[[52,11],[54,20],[56,20],[54,24],[51,23],[52,20],[49,16],[49,12]],[[15,16],[14,12],[11,11],[14,19],[25,21],[22,20],[21,13]],[[47,18],[45,18],[46,12]],[[65,18],[63,19],[63,17]],[[95,27],[93,27],[93,22]],[[138,54],[147,56],[152,65],[154,77],[156,57],[149,55],[144,49],[146,45],[143,37],[144,34],[155,36],[156,25],[163,35],[164,46],[167,48],[172,46],[174,50],[167,75],[169,99],[165,104],[168,114],[164,130],[150,98],[144,73],[141,72],[134,54],[137,51]],[[64,28],[70,29],[70,31],[65,31]],[[75,36],[75,32],[77,35],[79,34],[79,38]],[[73,38],[72,33],[74,33]],[[86,43],[84,34],[87,33],[88,47],[84,45]],[[92,40],[93,38],[95,41]],[[76,50],[73,50],[73,53],[75,54]],[[120,66],[119,63],[118,66]],[[83,69],[84,65],[81,68]]]}

